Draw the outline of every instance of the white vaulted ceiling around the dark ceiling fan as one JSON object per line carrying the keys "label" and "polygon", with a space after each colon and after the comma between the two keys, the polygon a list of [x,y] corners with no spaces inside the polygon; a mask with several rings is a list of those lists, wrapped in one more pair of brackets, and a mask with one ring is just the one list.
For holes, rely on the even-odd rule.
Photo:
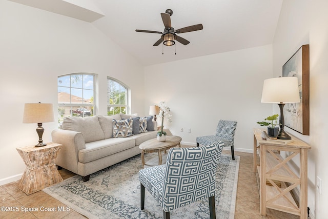
{"label": "white vaulted ceiling around the dark ceiling fan", "polygon": [[[90,22],[142,65],[172,62],[272,44],[283,0],[10,0]],[[203,30],[180,33],[190,41],[153,46],[164,25],[160,13],[172,9],[176,30],[202,24]],[[162,54],[163,53],[163,54]]]}

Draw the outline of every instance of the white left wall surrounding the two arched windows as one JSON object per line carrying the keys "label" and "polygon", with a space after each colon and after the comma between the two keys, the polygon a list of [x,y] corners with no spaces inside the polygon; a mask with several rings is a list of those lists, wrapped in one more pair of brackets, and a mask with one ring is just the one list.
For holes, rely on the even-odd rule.
{"label": "white left wall surrounding the two arched windows", "polygon": [[[37,124],[23,124],[25,103],[53,103],[57,76],[76,72],[99,77],[98,114],[107,114],[107,76],[130,86],[132,111],[144,111],[143,67],[92,24],[0,1],[0,185],[18,180],[25,165],[17,147],[38,141]],[[57,123],[44,123],[51,142]]]}

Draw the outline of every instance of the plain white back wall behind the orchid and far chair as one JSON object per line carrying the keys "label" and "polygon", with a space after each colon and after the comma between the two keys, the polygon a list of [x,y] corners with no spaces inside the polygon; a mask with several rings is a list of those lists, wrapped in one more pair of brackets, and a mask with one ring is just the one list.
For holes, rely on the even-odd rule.
{"label": "plain white back wall behind the orchid and far chair", "polygon": [[237,121],[235,149],[252,152],[252,129],[272,113],[271,104],[261,104],[270,77],[271,45],[148,66],[145,108],[166,101],[173,123],[165,125],[190,145],[215,134],[220,119]]}

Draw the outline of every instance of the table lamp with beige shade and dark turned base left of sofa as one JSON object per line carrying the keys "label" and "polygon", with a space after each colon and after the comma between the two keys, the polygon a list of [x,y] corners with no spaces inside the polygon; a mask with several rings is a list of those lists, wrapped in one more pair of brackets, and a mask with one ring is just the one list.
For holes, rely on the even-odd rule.
{"label": "table lamp with beige shade and dark turned base left of sofa", "polygon": [[35,147],[46,146],[43,143],[42,135],[45,129],[42,123],[54,122],[53,105],[52,104],[25,104],[23,123],[37,123],[36,133],[39,136],[39,143]]}

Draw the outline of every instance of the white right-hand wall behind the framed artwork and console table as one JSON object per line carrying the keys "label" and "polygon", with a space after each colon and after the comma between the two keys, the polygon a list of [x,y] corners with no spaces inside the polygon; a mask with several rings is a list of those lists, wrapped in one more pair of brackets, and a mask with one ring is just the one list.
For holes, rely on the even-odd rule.
{"label": "white right-hand wall behind the framed artwork and console table", "polygon": [[[283,64],[302,45],[310,45],[310,135],[293,133],[312,146],[308,158],[308,206],[312,217],[317,219],[328,217],[327,9],[327,1],[284,1],[273,43],[274,76],[281,76]],[[321,195],[316,190],[317,176],[322,180]]]}

